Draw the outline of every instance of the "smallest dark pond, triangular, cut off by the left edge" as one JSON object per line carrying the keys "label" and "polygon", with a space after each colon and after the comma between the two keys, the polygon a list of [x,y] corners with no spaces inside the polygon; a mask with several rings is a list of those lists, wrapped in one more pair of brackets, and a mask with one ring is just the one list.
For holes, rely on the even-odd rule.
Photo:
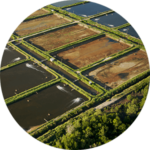
{"label": "smallest dark pond, triangular, cut off by the left edge", "polygon": [[26,59],[26,57],[10,46],[6,45],[1,56],[0,67],[6,66],[22,59]]}

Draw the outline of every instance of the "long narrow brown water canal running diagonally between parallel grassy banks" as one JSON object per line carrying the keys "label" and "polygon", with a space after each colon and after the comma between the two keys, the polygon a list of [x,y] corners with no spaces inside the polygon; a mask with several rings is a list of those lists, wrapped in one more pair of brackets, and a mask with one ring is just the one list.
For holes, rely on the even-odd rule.
{"label": "long narrow brown water canal running diagonally between parallel grassy banks", "polygon": [[[15,42],[15,44],[16,44],[16,42]],[[29,48],[27,48],[26,46],[24,46],[22,44],[19,44],[18,47],[21,48],[22,50],[24,50],[26,53],[30,54],[31,56],[35,57],[39,61],[45,60],[45,58],[43,58],[42,56],[36,54],[35,52],[33,52],[32,50],[30,50]],[[68,72],[61,69],[60,67],[56,66],[53,62],[50,62],[49,60],[46,60],[46,61],[43,61],[43,64],[48,66],[49,68],[53,69],[55,72],[59,73],[60,75],[64,76],[68,80],[74,82],[74,84],[78,85],[79,87],[81,87],[85,91],[91,93],[92,95],[98,94],[98,92],[96,90],[94,90],[90,86],[84,84],[82,81],[76,81],[75,82],[75,80],[76,80],[75,77],[73,77]]]}

